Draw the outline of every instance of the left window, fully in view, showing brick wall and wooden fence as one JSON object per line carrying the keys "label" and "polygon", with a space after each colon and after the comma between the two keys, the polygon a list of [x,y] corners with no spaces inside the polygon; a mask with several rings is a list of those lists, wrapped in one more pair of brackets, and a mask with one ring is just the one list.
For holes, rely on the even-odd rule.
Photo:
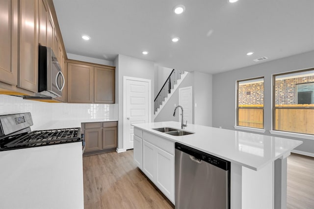
{"label": "left window, fully in view, showing brick wall and wooden fence", "polygon": [[264,78],[237,81],[237,126],[264,128]]}

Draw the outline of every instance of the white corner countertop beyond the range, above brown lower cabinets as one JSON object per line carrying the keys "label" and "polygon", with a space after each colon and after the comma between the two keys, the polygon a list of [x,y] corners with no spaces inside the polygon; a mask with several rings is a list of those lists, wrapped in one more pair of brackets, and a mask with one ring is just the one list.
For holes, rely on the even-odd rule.
{"label": "white corner countertop beyond the range, above brown lower cabinets", "polygon": [[35,128],[31,128],[32,131],[35,130],[49,130],[49,129],[61,129],[61,128],[77,128],[81,127],[81,123],[88,122],[110,122],[110,121],[118,121],[117,119],[111,118],[96,118],[96,119],[71,119],[71,120],[51,120],[42,125],[37,125]]}

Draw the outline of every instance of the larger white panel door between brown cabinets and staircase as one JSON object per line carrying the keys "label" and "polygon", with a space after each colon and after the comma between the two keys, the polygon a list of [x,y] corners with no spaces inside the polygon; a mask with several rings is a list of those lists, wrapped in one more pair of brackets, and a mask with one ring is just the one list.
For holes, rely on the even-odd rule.
{"label": "larger white panel door between brown cabinets and staircase", "polygon": [[133,149],[134,130],[131,124],[149,122],[149,92],[149,82],[126,80],[126,149]]}

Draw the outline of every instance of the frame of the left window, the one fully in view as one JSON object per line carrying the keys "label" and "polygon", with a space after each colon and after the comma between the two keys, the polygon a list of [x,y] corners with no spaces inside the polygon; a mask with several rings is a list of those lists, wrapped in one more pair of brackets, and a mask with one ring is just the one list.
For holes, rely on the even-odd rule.
{"label": "frame of the left window, the one fully in view", "polygon": [[[239,82],[242,81],[250,81],[250,80],[258,80],[258,79],[263,79],[263,106],[262,107],[239,107]],[[254,77],[254,78],[247,78],[247,79],[241,79],[241,80],[236,80],[236,103],[235,103],[235,111],[236,111],[236,118],[235,118],[235,129],[241,129],[241,130],[249,130],[249,131],[256,131],[256,132],[265,132],[264,127],[265,127],[265,122],[264,122],[264,95],[265,95],[265,77],[260,76],[260,77]],[[256,127],[250,127],[250,126],[241,126],[239,125],[239,109],[262,109],[262,118],[263,118],[263,123],[262,123],[262,128],[256,128]]]}

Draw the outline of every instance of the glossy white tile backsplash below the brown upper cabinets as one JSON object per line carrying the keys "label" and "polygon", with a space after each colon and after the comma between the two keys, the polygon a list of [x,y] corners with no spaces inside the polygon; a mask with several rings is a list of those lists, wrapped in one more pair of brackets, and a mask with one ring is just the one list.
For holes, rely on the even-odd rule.
{"label": "glossy white tile backsplash below the brown upper cabinets", "polygon": [[0,94],[0,115],[30,112],[32,129],[51,120],[118,119],[118,104],[47,103]]}

